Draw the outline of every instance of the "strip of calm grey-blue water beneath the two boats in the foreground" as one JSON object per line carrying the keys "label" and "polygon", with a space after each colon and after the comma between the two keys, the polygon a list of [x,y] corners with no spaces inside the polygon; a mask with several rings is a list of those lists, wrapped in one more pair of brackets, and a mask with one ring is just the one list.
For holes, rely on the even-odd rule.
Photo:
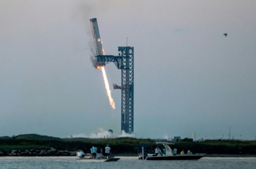
{"label": "strip of calm grey-blue water beneath the two boats in the foreground", "polygon": [[86,162],[75,157],[0,157],[0,168],[256,168],[256,157],[203,157],[199,160],[150,161],[119,157],[117,162]]}

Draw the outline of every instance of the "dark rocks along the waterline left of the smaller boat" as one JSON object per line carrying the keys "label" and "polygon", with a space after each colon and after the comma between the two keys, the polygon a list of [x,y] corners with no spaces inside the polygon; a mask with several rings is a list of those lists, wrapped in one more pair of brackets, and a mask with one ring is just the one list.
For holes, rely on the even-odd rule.
{"label": "dark rocks along the waterline left of the smaller boat", "polygon": [[53,147],[49,150],[0,150],[0,156],[76,156],[76,151],[57,150]]}

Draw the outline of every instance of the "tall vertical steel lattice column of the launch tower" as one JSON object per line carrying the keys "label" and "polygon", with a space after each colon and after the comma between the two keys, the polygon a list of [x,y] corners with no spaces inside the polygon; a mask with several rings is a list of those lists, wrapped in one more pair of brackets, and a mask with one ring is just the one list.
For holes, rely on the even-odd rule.
{"label": "tall vertical steel lattice column of the launch tower", "polygon": [[[122,114],[121,130],[133,132],[133,47],[118,47],[122,64]],[[125,57],[123,57],[125,56]]]}

